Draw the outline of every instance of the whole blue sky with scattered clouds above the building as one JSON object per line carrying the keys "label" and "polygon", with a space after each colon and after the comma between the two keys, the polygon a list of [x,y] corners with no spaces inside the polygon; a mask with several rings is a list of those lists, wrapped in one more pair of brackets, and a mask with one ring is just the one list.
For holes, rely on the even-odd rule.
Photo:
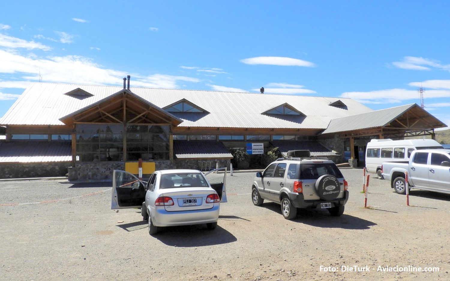
{"label": "whole blue sky with scattered clouds above the building", "polygon": [[[30,82],[420,104],[450,124],[450,1],[9,1],[0,116]],[[245,93],[243,93],[245,94]]]}

